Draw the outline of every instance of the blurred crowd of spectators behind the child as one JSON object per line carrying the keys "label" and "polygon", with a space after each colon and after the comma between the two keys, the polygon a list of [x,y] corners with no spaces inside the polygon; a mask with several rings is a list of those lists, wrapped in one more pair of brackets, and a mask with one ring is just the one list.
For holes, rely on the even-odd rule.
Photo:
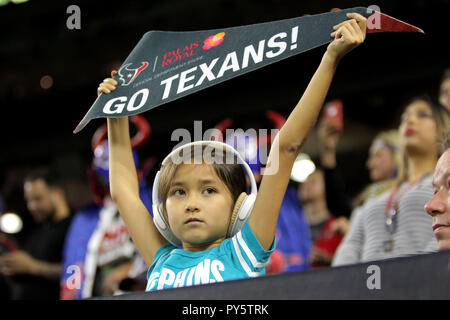
{"label": "blurred crowd of spectators behind the child", "polygon": [[[346,194],[346,179],[336,157],[342,123],[320,118],[313,132],[320,154],[316,169],[304,182],[292,180],[288,186],[267,274],[450,248],[448,230],[437,231],[442,226],[450,228],[448,195],[441,201],[444,204],[437,198],[445,170],[450,170],[450,70],[443,72],[438,97],[411,97],[402,110],[398,127],[374,137],[366,162],[371,183],[355,197]],[[274,128],[283,124],[283,116],[275,111],[268,117]],[[138,132],[132,141],[141,198],[151,212],[151,186],[146,178],[157,161],[140,161],[137,152],[150,138],[150,124],[141,116],[134,116],[132,123]],[[217,128],[230,126],[227,122]],[[70,190],[51,166],[27,173],[23,201],[33,221],[24,221],[31,224],[24,239],[18,240],[4,228],[0,232],[1,298],[83,299],[145,289],[148,266],[109,195],[105,130],[99,128],[92,139],[92,165],[86,177],[91,204],[71,208]],[[257,181],[261,166],[251,162]],[[2,221],[8,212],[8,203],[0,195]],[[447,218],[437,223],[440,214]]]}

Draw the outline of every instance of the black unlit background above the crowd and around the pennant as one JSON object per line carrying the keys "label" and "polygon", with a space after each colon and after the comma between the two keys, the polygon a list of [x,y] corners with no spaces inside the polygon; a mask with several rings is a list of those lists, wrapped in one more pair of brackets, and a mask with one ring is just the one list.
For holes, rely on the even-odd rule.
{"label": "black unlit background above the crowd and around the pennant", "polygon": [[[69,5],[81,9],[81,29],[69,30]],[[36,1],[0,7],[0,194],[10,211],[26,212],[23,175],[36,165],[52,164],[70,180],[75,207],[89,201],[86,169],[90,141],[104,119],[72,131],[96,98],[98,84],[120,66],[150,30],[192,31],[240,26],[375,4],[381,11],[422,28],[419,33],[369,34],[360,48],[341,61],[329,99],[344,102],[345,131],[338,161],[349,195],[368,183],[365,169],[371,139],[396,128],[406,100],[428,93],[437,97],[449,67],[449,0],[441,1]],[[159,160],[177,142],[177,128],[203,131],[225,117],[236,128],[259,123],[273,109],[287,116],[318,66],[325,46],[262,68],[144,113],[152,137],[139,150]],[[40,80],[50,75],[53,86]],[[304,151],[317,156],[314,132]],[[150,174],[149,181],[152,180]]]}

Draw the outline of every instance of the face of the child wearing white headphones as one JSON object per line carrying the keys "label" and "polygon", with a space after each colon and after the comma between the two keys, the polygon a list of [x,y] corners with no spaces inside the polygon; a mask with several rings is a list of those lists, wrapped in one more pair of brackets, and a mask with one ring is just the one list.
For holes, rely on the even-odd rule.
{"label": "face of the child wearing white headphones", "polygon": [[183,248],[200,251],[226,238],[233,198],[208,164],[182,164],[175,172],[166,200],[172,232]]}

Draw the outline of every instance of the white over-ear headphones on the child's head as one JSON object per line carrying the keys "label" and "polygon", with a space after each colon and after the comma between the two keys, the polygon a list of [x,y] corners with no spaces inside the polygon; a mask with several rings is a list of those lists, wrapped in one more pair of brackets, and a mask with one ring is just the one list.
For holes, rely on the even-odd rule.
{"label": "white over-ear headphones on the child's head", "polygon": [[[248,177],[250,179],[250,194],[245,194],[245,197],[242,199],[242,204],[237,204],[238,207],[235,208],[234,211],[236,212],[236,218],[234,221],[231,221],[231,231],[229,232],[229,236],[232,237],[236,233],[239,232],[239,230],[242,229],[245,222],[247,221],[248,217],[250,216],[250,213],[253,209],[253,205],[255,204],[256,200],[256,194],[257,194],[257,187],[256,187],[256,181],[255,177],[253,176],[253,172],[250,169],[249,165],[244,161],[244,159],[241,157],[239,152],[236,151],[232,146],[219,142],[219,141],[195,141],[188,144],[185,144],[181,147],[176,148],[173,150],[169,155],[163,160],[161,167],[167,164],[169,158],[174,157],[178,155],[182,150],[189,149],[193,146],[207,146],[212,147],[214,149],[220,149],[220,150],[227,150],[231,151],[241,162],[241,165],[244,167],[245,171],[248,174]],[[161,170],[159,170],[156,173],[155,180],[153,182],[153,190],[152,190],[152,202],[153,202],[153,222],[156,226],[156,228],[159,230],[159,232],[166,238],[167,241],[172,243],[174,246],[180,246],[181,240],[178,239],[170,230],[168,222],[165,220],[163,213],[162,213],[162,205],[160,200],[160,194],[159,194],[159,180],[160,180],[160,174]],[[240,200],[241,201],[241,200]],[[234,216],[234,215],[233,215]]]}

